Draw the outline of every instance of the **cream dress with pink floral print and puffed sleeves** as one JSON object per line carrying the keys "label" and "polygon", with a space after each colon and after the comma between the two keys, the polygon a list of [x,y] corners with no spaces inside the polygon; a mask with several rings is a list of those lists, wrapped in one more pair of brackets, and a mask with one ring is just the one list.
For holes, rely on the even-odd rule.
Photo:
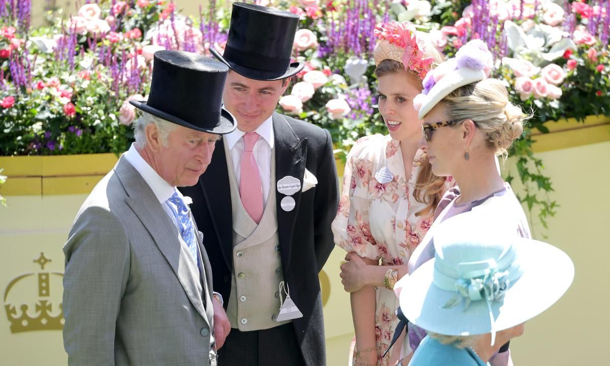
{"label": "cream dress with pink floral print and puffed sleeves", "polygon": [[[360,138],[350,151],[343,174],[337,217],[332,221],[335,244],[361,257],[381,259],[382,265],[403,265],[432,224],[432,213],[415,216],[425,208],[413,196],[423,152],[417,151],[411,176],[405,177],[400,145],[389,135]],[[382,184],[375,174],[382,168],[392,181]],[[386,175],[387,176],[387,175]],[[381,179],[383,181],[383,179]],[[453,187],[448,178],[446,188]],[[389,365],[390,354],[381,359],[398,324],[398,298],[384,287],[376,288],[375,333],[378,365]],[[351,352],[354,351],[352,342]]]}

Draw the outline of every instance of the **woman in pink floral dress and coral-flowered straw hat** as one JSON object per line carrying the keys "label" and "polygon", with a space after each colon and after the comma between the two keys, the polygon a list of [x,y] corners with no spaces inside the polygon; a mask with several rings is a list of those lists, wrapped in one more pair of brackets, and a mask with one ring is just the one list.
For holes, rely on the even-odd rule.
{"label": "woman in pink floral dress and coral-flowered straw hat", "polygon": [[389,135],[363,137],[351,149],[332,223],[336,245],[348,251],[341,277],[351,293],[356,333],[350,356],[359,366],[397,361],[400,350],[381,357],[398,323],[392,283],[407,273],[406,264],[431,225],[434,208],[452,185],[450,178],[432,174],[417,148],[422,121],[412,103],[423,77],[442,62],[442,55],[408,23],[383,24],[375,36],[379,112]]}

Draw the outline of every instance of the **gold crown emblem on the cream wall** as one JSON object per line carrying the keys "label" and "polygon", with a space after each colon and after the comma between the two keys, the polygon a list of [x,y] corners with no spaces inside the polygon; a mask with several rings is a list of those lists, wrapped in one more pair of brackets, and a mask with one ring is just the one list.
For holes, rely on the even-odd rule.
{"label": "gold crown emblem on the cream wall", "polygon": [[[63,277],[63,273],[59,272],[44,272],[45,265],[51,262],[51,259],[45,257],[44,253],[40,253],[40,257],[34,260],[41,267],[38,273],[25,273],[21,274],[17,278],[13,279],[7,285],[4,291],[4,308],[6,309],[6,316],[10,322],[10,332],[30,332],[30,331],[50,331],[50,330],[61,330],[63,329],[63,309],[62,304],[59,304],[59,314],[53,315],[51,302],[49,296],[51,296],[51,276]],[[19,310],[15,304],[7,303],[7,296],[11,290],[15,290],[18,287],[15,285],[21,285],[25,283],[24,280],[37,276],[38,278],[38,300],[35,301],[33,310],[28,304],[18,305]],[[33,316],[30,316],[32,314]]]}

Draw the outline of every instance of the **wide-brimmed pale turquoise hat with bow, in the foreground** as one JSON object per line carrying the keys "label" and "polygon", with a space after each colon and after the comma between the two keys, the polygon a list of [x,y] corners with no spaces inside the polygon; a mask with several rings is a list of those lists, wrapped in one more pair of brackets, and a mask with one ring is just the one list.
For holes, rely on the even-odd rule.
{"label": "wide-brimmed pale turquoise hat with bow, in the foreground", "polygon": [[492,333],[493,339],[558,301],[572,284],[572,260],[552,245],[517,237],[509,226],[473,212],[443,221],[434,235],[434,259],[401,290],[407,319],[428,332]]}

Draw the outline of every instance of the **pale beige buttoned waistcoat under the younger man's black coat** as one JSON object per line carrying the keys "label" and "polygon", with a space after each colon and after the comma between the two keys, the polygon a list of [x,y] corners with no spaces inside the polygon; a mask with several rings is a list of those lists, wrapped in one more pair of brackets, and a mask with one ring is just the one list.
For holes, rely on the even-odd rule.
{"label": "pale beige buttoned waistcoat under the younger man's black coat", "polygon": [[[257,225],[243,208],[235,179],[231,153],[223,143],[231,187],[233,212],[233,272],[227,316],[231,328],[257,331],[290,323],[276,321],[279,313],[279,283],[284,279],[279,255],[278,220],[274,188],[275,154],[271,151],[270,192],[263,217]],[[235,162],[239,163],[239,162]]]}

